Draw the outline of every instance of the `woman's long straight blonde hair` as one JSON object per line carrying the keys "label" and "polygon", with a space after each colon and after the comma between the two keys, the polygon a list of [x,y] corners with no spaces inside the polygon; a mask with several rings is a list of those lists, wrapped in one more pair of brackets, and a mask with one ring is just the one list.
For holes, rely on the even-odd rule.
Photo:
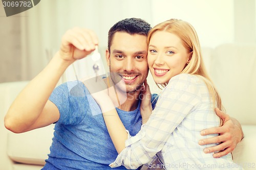
{"label": "woman's long straight blonde hair", "polygon": [[[187,52],[190,53],[190,62],[185,65],[181,73],[197,75],[201,77],[204,80],[209,90],[210,98],[212,98],[212,102],[214,104],[217,103],[217,107],[220,110],[224,111],[220,95],[205,69],[198,35],[194,27],[191,26],[190,23],[180,19],[166,20],[156,25],[148,33],[147,44],[149,44],[152,35],[156,31],[166,31],[169,33],[173,33],[181,39],[183,46],[186,48]],[[161,86],[166,86],[166,85],[167,84],[161,84]]]}

